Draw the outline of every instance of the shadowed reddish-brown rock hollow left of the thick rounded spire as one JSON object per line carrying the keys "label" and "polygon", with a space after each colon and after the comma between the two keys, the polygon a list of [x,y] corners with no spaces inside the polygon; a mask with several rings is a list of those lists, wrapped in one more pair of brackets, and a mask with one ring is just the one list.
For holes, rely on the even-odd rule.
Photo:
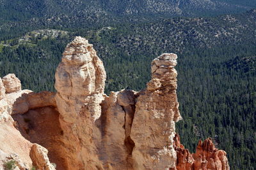
{"label": "shadowed reddish-brown rock hollow left of the thick rounded spire", "polygon": [[67,156],[63,153],[65,147],[61,142],[63,132],[59,117],[60,113],[54,106],[33,108],[26,113],[12,115],[20,134],[29,142],[47,148],[49,160],[59,169],[65,169],[64,158]]}

